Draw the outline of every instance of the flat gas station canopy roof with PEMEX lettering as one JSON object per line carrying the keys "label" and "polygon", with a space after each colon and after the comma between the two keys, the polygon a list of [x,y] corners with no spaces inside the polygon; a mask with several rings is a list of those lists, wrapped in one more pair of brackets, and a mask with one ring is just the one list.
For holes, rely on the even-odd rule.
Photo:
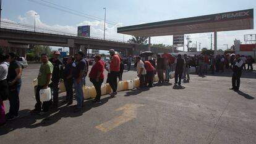
{"label": "flat gas station canopy roof with PEMEX lettering", "polygon": [[254,29],[254,9],[166,20],[117,28],[117,33],[133,36],[166,36]]}

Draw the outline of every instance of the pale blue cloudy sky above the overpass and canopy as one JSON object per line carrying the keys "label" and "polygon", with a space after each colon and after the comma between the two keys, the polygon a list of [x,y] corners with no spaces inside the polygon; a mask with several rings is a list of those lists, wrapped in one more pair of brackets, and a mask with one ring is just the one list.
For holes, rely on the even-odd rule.
{"label": "pale blue cloudy sky above the overpass and canopy", "polygon": [[[38,4],[38,2],[41,2],[41,4]],[[49,4],[49,2],[53,4]],[[46,5],[50,5],[50,7]],[[56,9],[56,6],[58,9]],[[66,8],[59,10],[63,9],[63,7]],[[77,26],[91,25],[91,36],[103,38],[103,7],[106,7],[106,38],[119,39],[121,41],[124,38],[127,41],[130,36],[117,34],[117,27],[234,10],[255,9],[256,2],[255,0],[2,0],[1,19],[34,25],[35,14],[38,14],[36,15],[36,26],[77,33]],[[65,12],[69,9],[76,10],[80,16]],[[254,23],[256,23],[256,20],[254,20]],[[226,49],[224,44],[228,44],[229,47],[232,46],[234,39],[240,39],[243,42],[244,34],[256,34],[256,30],[219,32],[218,49]],[[210,49],[209,37],[211,33],[189,35],[191,36],[192,43],[195,44],[197,41],[197,44],[199,42],[201,43],[201,48],[207,47]],[[151,38],[151,42],[153,44],[163,43],[172,45],[172,38],[172,36],[153,37]]]}

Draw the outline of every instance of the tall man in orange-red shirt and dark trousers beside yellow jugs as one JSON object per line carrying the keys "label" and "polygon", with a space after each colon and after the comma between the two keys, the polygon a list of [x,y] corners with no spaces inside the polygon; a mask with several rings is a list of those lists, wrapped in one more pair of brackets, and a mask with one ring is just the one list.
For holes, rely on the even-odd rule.
{"label": "tall man in orange-red shirt and dark trousers beside yellow jugs", "polygon": [[117,76],[119,75],[120,69],[120,58],[114,51],[114,49],[109,49],[109,54],[111,55],[111,62],[109,65],[109,85],[113,90],[111,95],[116,95],[117,92]]}

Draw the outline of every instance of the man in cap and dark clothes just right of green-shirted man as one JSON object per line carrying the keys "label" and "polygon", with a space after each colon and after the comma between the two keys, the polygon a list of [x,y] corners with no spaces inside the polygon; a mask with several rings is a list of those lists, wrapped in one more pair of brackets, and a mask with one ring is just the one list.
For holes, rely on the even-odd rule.
{"label": "man in cap and dark clothes just right of green-shirted man", "polygon": [[59,60],[59,51],[54,51],[53,58],[49,59],[49,62],[53,64],[53,74],[51,76],[51,90],[53,91],[53,108],[58,108],[59,102],[59,79],[63,70],[62,62]]}

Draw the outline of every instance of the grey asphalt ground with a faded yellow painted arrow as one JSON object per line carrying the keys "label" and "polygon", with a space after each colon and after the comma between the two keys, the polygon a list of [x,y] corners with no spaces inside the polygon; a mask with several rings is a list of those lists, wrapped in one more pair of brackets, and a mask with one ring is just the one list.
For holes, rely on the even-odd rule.
{"label": "grey asphalt ground with a faded yellow painted arrow", "polygon": [[[80,113],[62,105],[63,93],[57,110],[38,116],[29,113],[38,68],[24,69],[20,118],[0,128],[0,143],[256,143],[256,71],[243,71],[241,92],[229,90],[231,71],[190,75],[184,89],[173,89],[171,79],[105,95],[100,105],[86,100]],[[134,71],[124,73],[124,79],[135,77]]]}

